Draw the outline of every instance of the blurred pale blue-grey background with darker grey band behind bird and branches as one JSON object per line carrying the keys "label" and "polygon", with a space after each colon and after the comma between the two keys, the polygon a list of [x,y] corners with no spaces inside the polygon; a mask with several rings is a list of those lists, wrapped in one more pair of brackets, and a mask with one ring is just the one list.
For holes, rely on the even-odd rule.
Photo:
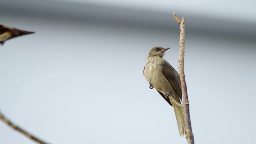
{"label": "blurred pale blue-grey background with darker grey band behind bird and branches", "polygon": [[[196,144],[256,143],[256,1],[1,0],[0,23],[36,32],[0,47],[0,110],[51,144],[186,144],[142,76],[149,50],[185,74]],[[33,144],[0,123],[1,144]]]}

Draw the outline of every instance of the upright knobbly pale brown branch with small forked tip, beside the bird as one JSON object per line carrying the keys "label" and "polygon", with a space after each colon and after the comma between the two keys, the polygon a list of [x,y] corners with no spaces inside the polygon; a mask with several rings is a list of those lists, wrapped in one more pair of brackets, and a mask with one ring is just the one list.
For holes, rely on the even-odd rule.
{"label": "upright knobbly pale brown branch with small forked tip, beside the bird", "polygon": [[[174,17],[177,20],[176,14]],[[178,20],[177,20],[178,22]],[[194,135],[192,133],[191,121],[190,121],[190,113],[189,113],[189,102],[188,102],[188,93],[187,93],[187,85],[184,74],[184,50],[185,50],[185,18],[182,17],[180,24],[180,54],[179,54],[179,75],[180,75],[180,83],[182,89],[182,109],[184,114],[184,122],[185,122],[185,135],[188,141],[188,144],[194,144]]]}

